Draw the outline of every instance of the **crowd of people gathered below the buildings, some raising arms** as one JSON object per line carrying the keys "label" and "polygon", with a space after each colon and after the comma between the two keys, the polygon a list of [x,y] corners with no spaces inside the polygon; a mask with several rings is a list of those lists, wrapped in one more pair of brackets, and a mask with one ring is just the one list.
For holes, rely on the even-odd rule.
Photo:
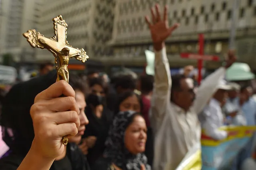
{"label": "crowd of people gathered below the buildings, some raising arms", "polygon": [[[201,127],[222,140],[224,124],[256,124],[250,86],[224,80],[235,61],[195,88],[189,74],[171,76],[165,40],[179,27],[168,25],[167,7],[146,17],[155,50],[155,75],[99,72],[70,75],[56,82],[50,65],[29,81],[14,85],[2,102],[3,140],[10,150],[0,170],[175,170],[200,143]],[[190,67],[189,67],[190,68]],[[46,74],[46,72],[48,72]],[[63,145],[63,136],[69,143]]]}

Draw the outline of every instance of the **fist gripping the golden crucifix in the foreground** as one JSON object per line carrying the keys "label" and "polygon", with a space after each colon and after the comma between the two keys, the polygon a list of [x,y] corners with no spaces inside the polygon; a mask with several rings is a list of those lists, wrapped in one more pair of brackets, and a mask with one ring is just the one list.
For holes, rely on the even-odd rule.
{"label": "fist gripping the golden crucifix in the foreground", "polygon": [[64,151],[62,136],[78,132],[79,113],[75,91],[64,80],[39,93],[30,110],[35,134],[31,148],[45,158],[60,156]]}

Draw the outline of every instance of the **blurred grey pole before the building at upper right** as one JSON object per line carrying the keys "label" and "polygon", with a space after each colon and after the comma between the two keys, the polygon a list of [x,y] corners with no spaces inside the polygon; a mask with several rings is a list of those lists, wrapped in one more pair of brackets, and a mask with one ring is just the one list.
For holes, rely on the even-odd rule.
{"label": "blurred grey pole before the building at upper right", "polygon": [[239,0],[233,0],[232,20],[231,20],[230,37],[229,37],[229,49],[235,48],[238,3],[239,3]]}

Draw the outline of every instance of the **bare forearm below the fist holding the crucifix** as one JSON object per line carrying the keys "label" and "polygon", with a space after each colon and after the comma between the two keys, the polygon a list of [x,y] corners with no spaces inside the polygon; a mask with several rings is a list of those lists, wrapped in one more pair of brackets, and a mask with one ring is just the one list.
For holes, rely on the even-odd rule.
{"label": "bare forearm below the fist holding the crucifix", "polygon": [[31,148],[17,170],[49,170],[53,162],[53,158],[44,158]]}

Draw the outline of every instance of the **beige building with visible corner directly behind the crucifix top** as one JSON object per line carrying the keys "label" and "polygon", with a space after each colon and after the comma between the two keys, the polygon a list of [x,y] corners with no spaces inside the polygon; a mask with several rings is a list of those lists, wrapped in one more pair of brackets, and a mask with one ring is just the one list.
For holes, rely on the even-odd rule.
{"label": "beige building with visible corner directly behind the crucifix top", "polygon": [[[42,0],[38,32],[52,37],[51,19],[62,15],[67,22],[67,40],[75,48],[84,48],[89,57],[111,53],[106,45],[111,39],[115,0]],[[38,61],[54,60],[47,50],[36,50]]]}

